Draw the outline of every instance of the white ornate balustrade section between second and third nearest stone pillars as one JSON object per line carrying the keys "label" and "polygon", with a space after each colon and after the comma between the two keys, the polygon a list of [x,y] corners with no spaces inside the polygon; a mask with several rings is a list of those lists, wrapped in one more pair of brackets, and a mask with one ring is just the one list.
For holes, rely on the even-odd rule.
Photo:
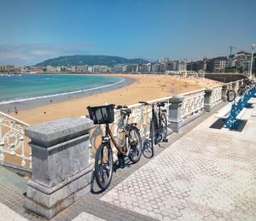
{"label": "white ornate balustrade section between second and third nearest stone pillars", "polygon": [[181,119],[189,119],[195,113],[204,110],[205,90],[195,90],[181,94],[181,96],[184,96],[181,107]]}

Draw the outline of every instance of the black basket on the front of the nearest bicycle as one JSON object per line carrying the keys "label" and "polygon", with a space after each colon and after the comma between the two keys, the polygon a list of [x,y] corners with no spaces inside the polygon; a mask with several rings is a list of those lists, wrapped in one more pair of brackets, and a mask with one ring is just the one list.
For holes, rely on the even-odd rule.
{"label": "black basket on the front of the nearest bicycle", "polygon": [[105,125],[111,124],[114,120],[114,113],[113,113],[113,104],[104,105],[104,106],[97,106],[97,107],[87,107],[90,119],[93,120],[95,125]]}

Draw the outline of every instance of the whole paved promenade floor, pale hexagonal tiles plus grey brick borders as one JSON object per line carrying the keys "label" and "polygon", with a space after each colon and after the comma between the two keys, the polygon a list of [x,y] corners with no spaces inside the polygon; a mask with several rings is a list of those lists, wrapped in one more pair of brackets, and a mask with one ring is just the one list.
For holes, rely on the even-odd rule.
{"label": "whole paved promenade floor, pale hexagonal tiles plus grey brick borders", "polygon": [[[94,183],[55,220],[256,220],[256,108],[238,131],[221,128],[212,113],[173,133],[153,159],[119,169],[107,191]],[[4,185],[0,220],[9,212],[41,219],[22,208],[22,189]]]}

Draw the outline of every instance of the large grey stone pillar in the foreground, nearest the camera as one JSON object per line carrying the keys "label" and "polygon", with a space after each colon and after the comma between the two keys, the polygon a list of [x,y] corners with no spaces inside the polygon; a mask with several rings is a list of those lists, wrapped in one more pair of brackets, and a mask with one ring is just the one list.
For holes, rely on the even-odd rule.
{"label": "large grey stone pillar in the foreground, nearest the camera", "polygon": [[53,218],[90,192],[90,119],[73,117],[29,126],[32,177],[27,181],[24,207]]}

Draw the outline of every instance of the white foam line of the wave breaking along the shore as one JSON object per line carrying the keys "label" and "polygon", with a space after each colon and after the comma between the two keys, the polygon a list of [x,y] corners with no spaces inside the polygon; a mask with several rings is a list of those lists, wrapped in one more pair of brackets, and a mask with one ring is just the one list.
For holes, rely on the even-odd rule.
{"label": "white foam line of the wave breaking along the shore", "polygon": [[103,86],[100,86],[100,87],[84,89],[84,90],[74,90],[74,91],[69,91],[69,92],[62,92],[62,93],[47,95],[47,96],[32,96],[32,97],[26,97],[26,98],[17,98],[15,100],[0,102],[0,105],[14,103],[14,102],[27,102],[27,101],[44,99],[44,98],[54,97],[54,96],[66,96],[66,95],[72,95],[72,94],[79,94],[79,93],[90,91],[90,90],[98,90],[98,89],[102,89],[102,88],[107,88],[107,87],[113,86],[115,84],[120,84],[125,80],[125,79],[121,79],[121,78],[117,78],[117,79],[120,79],[120,81],[118,81],[116,83],[113,83],[113,84],[103,85]]}

